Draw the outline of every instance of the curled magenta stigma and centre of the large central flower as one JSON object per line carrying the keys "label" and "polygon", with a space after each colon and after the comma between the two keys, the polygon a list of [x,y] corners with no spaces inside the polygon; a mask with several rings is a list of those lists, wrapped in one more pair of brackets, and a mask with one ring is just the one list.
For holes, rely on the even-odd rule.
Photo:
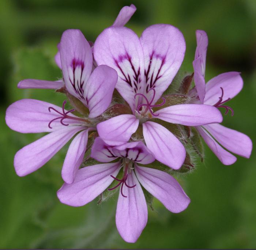
{"label": "curled magenta stigma and centre of the large central flower", "polygon": [[[151,99],[151,101],[148,101],[148,99],[147,99],[147,97],[145,96],[145,95],[143,95],[143,94],[140,94],[140,93],[138,93],[138,94],[135,94],[134,95],[134,98],[136,98],[136,96],[138,96],[138,95],[140,95],[140,96],[142,96],[144,99],[145,99],[145,101],[146,101],[146,103],[142,103],[142,104],[140,104],[138,107],[137,107],[137,112],[138,112],[138,114],[140,114],[140,115],[142,115],[143,117],[147,117],[147,118],[152,118],[152,115],[153,116],[158,116],[159,114],[157,114],[157,115],[155,115],[154,113],[153,113],[153,110],[152,110],[152,108],[153,107],[160,107],[160,106],[162,106],[162,105],[164,105],[165,104],[165,98],[161,98],[161,99],[163,99],[163,102],[162,103],[160,103],[160,104],[158,104],[158,105],[152,105],[152,102],[153,102],[153,100],[154,100],[154,98],[155,98],[155,89],[154,88],[150,88],[149,90],[153,90],[153,96],[152,96],[152,99]],[[148,113],[148,111],[150,112],[150,113]]]}

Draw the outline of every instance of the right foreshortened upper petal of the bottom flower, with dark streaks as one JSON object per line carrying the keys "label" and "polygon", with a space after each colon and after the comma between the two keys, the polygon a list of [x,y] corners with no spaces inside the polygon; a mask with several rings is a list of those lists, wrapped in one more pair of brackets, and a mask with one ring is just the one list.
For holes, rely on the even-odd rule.
{"label": "right foreshortened upper petal of the bottom flower, with dark streaks", "polygon": [[118,157],[125,157],[141,164],[149,164],[155,160],[152,152],[142,141],[124,143],[123,145],[113,147],[112,150],[114,155]]}

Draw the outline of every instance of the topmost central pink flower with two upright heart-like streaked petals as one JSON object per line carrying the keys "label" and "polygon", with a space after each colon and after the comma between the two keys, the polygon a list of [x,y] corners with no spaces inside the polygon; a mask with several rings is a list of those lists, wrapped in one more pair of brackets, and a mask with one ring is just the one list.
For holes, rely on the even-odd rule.
{"label": "topmost central pink flower with two upright heart-like streaked petals", "polygon": [[174,124],[198,126],[222,121],[217,108],[201,104],[167,106],[153,111],[172,82],[185,53],[185,41],[176,27],[155,24],[140,38],[126,27],[109,27],[96,39],[94,58],[98,65],[116,69],[116,89],[131,107],[132,114],[121,114],[97,125],[105,140],[128,141],[143,126],[147,147],[159,162],[178,169],[185,159],[182,143],[164,126],[150,121],[160,119]]}

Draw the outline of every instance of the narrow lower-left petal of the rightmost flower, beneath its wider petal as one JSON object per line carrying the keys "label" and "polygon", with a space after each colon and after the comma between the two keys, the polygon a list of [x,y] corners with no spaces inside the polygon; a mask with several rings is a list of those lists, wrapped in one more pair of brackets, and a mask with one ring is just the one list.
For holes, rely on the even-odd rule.
{"label": "narrow lower-left petal of the rightmost flower, beneath its wider petal", "polygon": [[215,141],[212,136],[203,127],[196,127],[200,135],[203,137],[205,143],[214,152],[214,154],[219,158],[219,160],[224,165],[231,165],[236,162],[237,158],[223,149],[217,141]]}

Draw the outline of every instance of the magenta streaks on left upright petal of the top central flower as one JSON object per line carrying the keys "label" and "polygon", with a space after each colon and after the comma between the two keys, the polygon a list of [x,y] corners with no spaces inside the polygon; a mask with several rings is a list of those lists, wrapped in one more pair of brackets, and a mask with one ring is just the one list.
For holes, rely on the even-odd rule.
{"label": "magenta streaks on left upright petal of the top central flower", "polygon": [[[139,67],[138,71],[136,71],[136,69],[134,68],[134,65],[132,63],[132,60],[131,60],[132,58],[131,58],[131,56],[127,52],[126,52],[126,54],[124,56],[123,55],[118,56],[118,60],[116,60],[115,58],[113,58],[113,59],[114,59],[114,62],[116,63],[116,65],[117,65],[118,69],[120,69],[121,73],[124,76],[124,79],[123,78],[121,78],[121,79],[123,81],[127,82],[129,84],[129,86],[131,86],[131,87],[133,87],[132,86],[132,83],[133,83],[133,85],[134,85],[134,89],[133,90],[134,90],[135,93],[137,93],[137,91],[138,91],[138,84],[141,82],[141,79],[139,77],[139,75],[140,75],[140,67]],[[118,62],[121,63],[124,60],[128,60],[130,65],[131,65],[132,71],[134,73],[132,78],[131,78],[130,75],[127,75],[127,76],[125,75],[123,69],[121,68],[121,66],[118,63]]]}

